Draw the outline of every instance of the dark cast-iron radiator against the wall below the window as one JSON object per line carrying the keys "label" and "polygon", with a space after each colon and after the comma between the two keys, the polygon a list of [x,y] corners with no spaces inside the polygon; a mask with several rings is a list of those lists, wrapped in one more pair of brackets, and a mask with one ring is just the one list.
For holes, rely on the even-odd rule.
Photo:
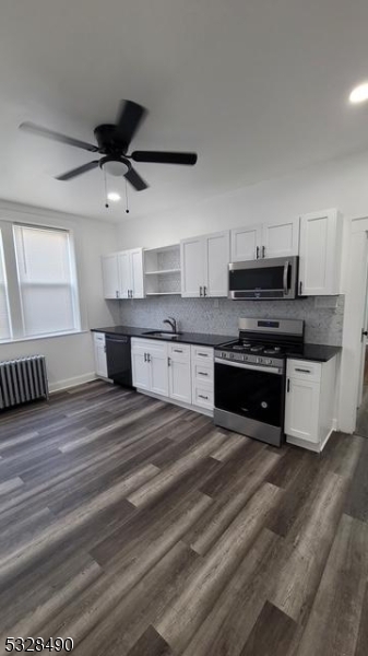
{"label": "dark cast-iron radiator against the wall below the window", "polygon": [[0,362],[0,410],[40,397],[48,399],[44,355]]}

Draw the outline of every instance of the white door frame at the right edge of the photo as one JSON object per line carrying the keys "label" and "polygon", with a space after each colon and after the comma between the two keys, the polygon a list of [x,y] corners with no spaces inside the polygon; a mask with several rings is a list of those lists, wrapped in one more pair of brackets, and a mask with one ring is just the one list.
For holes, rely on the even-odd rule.
{"label": "white door frame at the right edge of the photo", "polygon": [[361,367],[361,328],[365,320],[368,266],[368,216],[351,223],[346,256],[346,294],[339,402],[339,429],[354,433]]}

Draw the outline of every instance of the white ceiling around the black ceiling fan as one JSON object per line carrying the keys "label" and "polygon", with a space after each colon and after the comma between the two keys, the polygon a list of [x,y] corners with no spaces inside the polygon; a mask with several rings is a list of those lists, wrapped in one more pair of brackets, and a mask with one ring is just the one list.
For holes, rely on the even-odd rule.
{"label": "white ceiling around the black ceiling fan", "polygon": [[[93,141],[120,98],[150,114],[133,149],[195,150],[194,167],[136,164],[130,218],[368,148],[367,0],[1,0],[0,198],[122,220],[91,153],[20,132],[24,120]],[[123,192],[122,180],[111,189]]]}

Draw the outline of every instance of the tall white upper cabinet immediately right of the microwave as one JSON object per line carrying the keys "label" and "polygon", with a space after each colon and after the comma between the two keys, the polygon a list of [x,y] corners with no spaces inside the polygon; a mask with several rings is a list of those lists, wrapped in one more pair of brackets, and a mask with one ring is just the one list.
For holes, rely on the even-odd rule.
{"label": "tall white upper cabinet immediately right of the microwave", "polygon": [[300,218],[299,293],[304,296],[339,294],[342,224],[336,210]]}

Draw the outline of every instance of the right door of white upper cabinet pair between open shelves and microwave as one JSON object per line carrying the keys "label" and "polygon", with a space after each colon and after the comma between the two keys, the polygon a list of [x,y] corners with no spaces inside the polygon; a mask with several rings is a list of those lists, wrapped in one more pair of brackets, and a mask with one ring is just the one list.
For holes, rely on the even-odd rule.
{"label": "right door of white upper cabinet pair between open shelves and microwave", "polygon": [[228,231],[205,237],[205,296],[227,296],[230,235]]}

